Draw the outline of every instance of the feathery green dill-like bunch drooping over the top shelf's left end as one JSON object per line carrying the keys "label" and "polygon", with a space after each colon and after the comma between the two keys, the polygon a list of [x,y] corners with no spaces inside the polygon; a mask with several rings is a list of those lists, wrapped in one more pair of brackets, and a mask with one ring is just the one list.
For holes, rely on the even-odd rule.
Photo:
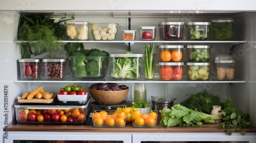
{"label": "feathery green dill-like bunch drooping over the top shelf's left end", "polygon": [[[52,14],[20,14],[17,40],[22,41],[20,46],[22,58],[61,50],[63,43],[60,40],[66,39],[66,29],[60,23],[67,20],[70,19],[66,18],[66,14],[56,22]],[[31,47],[35,49],[32,50]]]}

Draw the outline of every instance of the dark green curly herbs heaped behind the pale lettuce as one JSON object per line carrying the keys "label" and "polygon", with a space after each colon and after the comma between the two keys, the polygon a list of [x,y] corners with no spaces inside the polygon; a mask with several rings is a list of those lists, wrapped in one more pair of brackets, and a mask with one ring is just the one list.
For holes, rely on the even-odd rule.
{"label": "dark green curly herbs heaped behind the pale lettuce", "polygon": [[180,103],[182,106],[207,114],[210,114],[212,106],[223,105],[218,95],[208,93],[206,89],[199,91],[196,94],[186,94],[186,96],[189,97]]}

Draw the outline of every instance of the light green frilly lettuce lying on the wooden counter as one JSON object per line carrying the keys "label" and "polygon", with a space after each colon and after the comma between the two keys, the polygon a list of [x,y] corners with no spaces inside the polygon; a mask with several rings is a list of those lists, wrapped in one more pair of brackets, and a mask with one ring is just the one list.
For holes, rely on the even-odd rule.
{"label": "light green frilly lettuce lying on the wooden counter", "polygon": [[202,126],[204,123],[215,123],[221,119],[221,115],[210,115],[189,109],[180,104],[176,104],[171,109],[160,110],[162,119],[160,127],[172,126]]}

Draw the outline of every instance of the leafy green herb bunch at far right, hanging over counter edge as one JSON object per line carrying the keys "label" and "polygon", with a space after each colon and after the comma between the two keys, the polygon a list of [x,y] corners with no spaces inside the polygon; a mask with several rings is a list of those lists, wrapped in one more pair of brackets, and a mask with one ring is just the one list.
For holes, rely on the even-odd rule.
{"label": "leafy green herb bunch at far right, hanging over counter edge", "polygon": [[[224,109],[220,110],[219,112],[223,114],[223,121],[221,124],[219,124],[219,128],[228,128],[228,135],[232,134],[230,128],[236,128],[239,131],[242,128],[252,126],[250,116],[243,113],[240,109],[235,108],[229,97],[226,97]],[[241,134],[244,135],[245,131],[242,131]]]}

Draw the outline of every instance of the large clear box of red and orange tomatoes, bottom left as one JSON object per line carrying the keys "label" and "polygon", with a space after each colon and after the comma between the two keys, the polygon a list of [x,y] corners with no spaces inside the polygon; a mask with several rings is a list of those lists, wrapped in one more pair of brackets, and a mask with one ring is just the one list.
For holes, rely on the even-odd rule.
{"label": "large clear box of red and orange tomatoes, bottom left", "polygon": [[[85,123],[88,115],[88,106],[90,104],[91,98],[88,97],[86,101],[82,103],[71,102],[71,103],[62,103],[58,100],[53,101],[52,103],[15,103],[16,111],[16,121],[18,123],[32,123],[32,124],[81,124]],[[50,111],[51,110],[51,111]],[[57,111],[59,110],[59,111]],[[58,114],[57,112],[63,111],[65,114],[69,114],[69,117],[66,120],[54,121],[52,116],[53,114]],[[40,112],[43,117],[37,118],[31,121],[29,119],[29,112]],[[76,112],[76,113],[74,113]],[[35,112],[34,112],[35,113]],[[74,113],[72,115],[72,113]],[[64,115],[65,115],[64,114]],[[56,117],[56,116],[55,116]],[[56,120],[56,118],[55,118]]]}

